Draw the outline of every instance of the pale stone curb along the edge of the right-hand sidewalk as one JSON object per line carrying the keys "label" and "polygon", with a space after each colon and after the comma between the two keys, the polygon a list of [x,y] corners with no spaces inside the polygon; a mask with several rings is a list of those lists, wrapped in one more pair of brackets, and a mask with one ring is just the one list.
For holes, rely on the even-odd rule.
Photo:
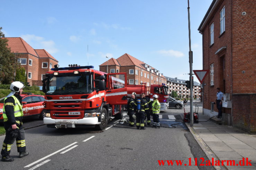
{"label": "pale stone curb along the edge of the right-hand sidewalk", "polygon": [[[185,123],[186,124],[186,123]],[[186,124],[187,126],[187,124]],[[203,152],[205,153],[206,157],[211,160],[212,158],[214,158],[214,160],[219,160],[220,159],[215,155],[215,153],[207,146],[207,144],[203,141],[203,139],[195,132],[193,127],[187,126],[187,128],[189,129],[189,131],[192,133],[193,137],[195,138],[196,142],[199,144],[199,146],[201,147],[201,149],[203,150]],[[220,161],[221,162],[221,161]],[[213,166],[216,170],[223,170],[224,169],[228,169],[226,166],[220,167],[220,166]]]}

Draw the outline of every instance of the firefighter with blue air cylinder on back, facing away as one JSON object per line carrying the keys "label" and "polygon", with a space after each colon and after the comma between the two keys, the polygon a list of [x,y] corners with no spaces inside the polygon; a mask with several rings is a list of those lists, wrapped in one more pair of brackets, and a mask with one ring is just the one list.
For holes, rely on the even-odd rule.
{"label": "firefighter with blue air cylinder on back, facing away", "polygon": [[144,130],[144,121],[145,121],[145,105],[147,102],[143,99],[143,94],[140,94],[140,99],[137,99],[136,106],[136,127],[137,129]]}

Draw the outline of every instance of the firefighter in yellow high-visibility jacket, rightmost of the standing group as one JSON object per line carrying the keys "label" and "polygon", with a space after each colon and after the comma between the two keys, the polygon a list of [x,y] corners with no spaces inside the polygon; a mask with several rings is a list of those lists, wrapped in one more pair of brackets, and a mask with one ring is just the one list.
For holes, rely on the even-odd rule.
{"label": "firefighter in yellow high-visibility jacket, rightmost of the standing group", "polygon": [[159,121],[159,113],[160,113],[160,103],[157,100],[158,96],[156,94],[153,95],[153,103],[152,103],[152,112],[153,112],[153,127],[160,128],[160,121]]}

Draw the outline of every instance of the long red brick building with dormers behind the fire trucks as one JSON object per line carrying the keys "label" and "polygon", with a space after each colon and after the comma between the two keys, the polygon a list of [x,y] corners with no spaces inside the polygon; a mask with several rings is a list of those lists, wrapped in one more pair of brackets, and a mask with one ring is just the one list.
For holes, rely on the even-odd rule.
{"label": "long red brick building with dormers behind the fire trucks", "polygon": [[126,72],[129,84],[146,83],[147,86],[150,86],[151,84],[167,83],[166,78],[159,70],[127,53],[117,59],[111,58],[100,64],[99,70],[107,72],[107,66],[108,73]]}

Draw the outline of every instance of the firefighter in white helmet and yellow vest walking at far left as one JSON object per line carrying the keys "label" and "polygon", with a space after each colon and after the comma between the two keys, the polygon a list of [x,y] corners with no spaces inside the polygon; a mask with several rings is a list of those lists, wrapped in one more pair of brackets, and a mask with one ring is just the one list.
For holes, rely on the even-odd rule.
{"label": "firefighter in white helmet and yellow vest walking at far left", "polygon": [[11,93],[4,99],[3,105],[3,125],[6,130],[5,140],[3,141],[3,147],[1,150],[1,161],[11,162],[14,161],[10,157],[11,146],[16,140],[17,150],[19,152],[19,158],[28,155],[25,144],[25,132],[22,127],[22,93],[24,83],[15,81],[11,83]]}

